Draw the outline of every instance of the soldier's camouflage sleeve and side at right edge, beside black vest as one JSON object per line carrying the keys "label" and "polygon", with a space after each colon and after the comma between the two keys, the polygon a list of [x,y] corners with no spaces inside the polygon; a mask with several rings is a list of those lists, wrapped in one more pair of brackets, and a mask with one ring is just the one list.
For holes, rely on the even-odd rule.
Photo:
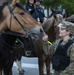
{"label": "soldier's camouflage sleeve and side at right edge, beside black vest", "polygon": [[74,44],[69,47],[67,55],[70,56],[70,64],[60,75],[74,75]]}

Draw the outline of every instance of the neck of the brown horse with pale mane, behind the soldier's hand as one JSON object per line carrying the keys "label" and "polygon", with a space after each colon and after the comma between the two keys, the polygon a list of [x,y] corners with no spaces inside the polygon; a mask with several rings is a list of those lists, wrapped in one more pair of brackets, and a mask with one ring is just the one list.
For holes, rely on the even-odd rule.
{"label": "neck of the brown horse with pale mane, behind the soldier's hand", "polygon": [[54,20],[54,17],[51,16],[51,18],[49,18],[44,24],[42,24],[42,27],[48,35],[49,41],[51,42],[55,40]]}

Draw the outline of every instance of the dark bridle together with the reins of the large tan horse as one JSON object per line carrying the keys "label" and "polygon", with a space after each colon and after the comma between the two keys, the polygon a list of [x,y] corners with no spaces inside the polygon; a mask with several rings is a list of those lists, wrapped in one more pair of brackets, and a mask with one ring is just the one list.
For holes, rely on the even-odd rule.
{"label": "dark bridle together with the reins of the large tan horse", "polygon": [[[11,22],[12,22],[12,16],[15,18],[15,20],[19,23],[19,25],[22,27],[22,29],[26,32],[25,33],[25,35],[22,35],[22,34],[20,34],[20,36],[22,37],[22,38],[31,38],[32,36],[34,36],[34,37],[36,37],[37,38],[37,36],[35,35],[35,34],[32,34],[31,32],[29,32],[25,27],[24,27],[24,25],[18,20],[18,18],[14,15],[14,13],[13,13],[13,11],[14,11],[14,9],[15,9],[16,7],[14,6],[14,8],[12,8],[10,5],[8,5],[8,9],[9,9],[9,11],[10,11],[10,14],[11,14],[11,17],[10,17],[10,28],[11,28]],[[28,24],[29,25],[29,24]],[[1,34],[10,34],[10,35],[16,35],[16,36],[19,36],[19,34],[18,33],[12,33],[12,32],[2,32]],[[1,36],[0,36],[0,38],[1,38]],[[2,38],[1,38],[2,39]],[[16,49],[16,47],[13,47],[13,46],[10,46],[9,44],[7,44],[3,39],[2,39],[2,41],[3,41],[3,43],[5,44],[5,45],[7,45],[7,46],[9,46],[10,48],[13,48],[13,49]],[[20,41],[21,43],[22,43],[22,45],[23,45],[23,42],[22,41]]]}

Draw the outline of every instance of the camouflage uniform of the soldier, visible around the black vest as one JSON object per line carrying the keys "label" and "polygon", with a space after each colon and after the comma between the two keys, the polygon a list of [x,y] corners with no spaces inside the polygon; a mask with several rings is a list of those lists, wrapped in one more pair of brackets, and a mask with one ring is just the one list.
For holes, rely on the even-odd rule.
{"label": "camouflage uniform of the soldier, visible around the black vest", "polygon": [[[59,43],[60,40],[56,40],[56,42],[53,43],[53,45],[50,47],[50,50],[51,50],[51,54],[53,55],[56,51],[56,48],[58,46],[58,43]],[[63,41],[61,44],[66,44],[67,41]],[[49,52],[50,52],[49,50]],[[74,44],[72,44],[68,51],[67,51],[67,55],[70,56],[70,60],[71,61],[74,61]],[[69,66],[64,70],[64,71],[60,71],[60,75],[70,75],[74,73],[74,62],[71,62],[69,64]]]}

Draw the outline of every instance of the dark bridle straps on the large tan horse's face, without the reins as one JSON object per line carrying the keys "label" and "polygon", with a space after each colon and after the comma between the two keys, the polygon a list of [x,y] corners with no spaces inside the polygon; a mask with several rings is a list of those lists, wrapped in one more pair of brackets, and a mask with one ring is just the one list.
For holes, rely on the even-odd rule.
{"label": "dark bridle straps on the large tan horse's face, without the reins", "polygon": [[[8,9],[10,11],[11,17],[10,17],[10,27],[11,27],[11,22],[12,22],[12,16],[15,18],[15,20],[19,23],[19,25],[22,27],[22,29],[26,32],[24,35],[22,35],[22,37],[33,37],[33,39],[38,38],[36,34],[31,33],[29,30],[27,30],[24,25],[18,20],[18,18],[14,15],[13,11],[16,7],[14,6],[13,8],[8,5]],[[20,8],[21,9],[21,8]],[[25,19],[24,19],[25,20]],[[27,25],[29,26],[28,22],[25,20],[25,22],[27,23]]]}

